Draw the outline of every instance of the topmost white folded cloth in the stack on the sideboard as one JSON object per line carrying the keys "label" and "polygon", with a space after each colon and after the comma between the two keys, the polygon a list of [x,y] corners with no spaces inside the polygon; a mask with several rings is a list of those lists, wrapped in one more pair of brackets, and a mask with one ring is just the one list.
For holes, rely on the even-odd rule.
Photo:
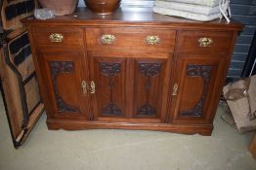
{"label": "topmost white folded cloth in the stack on the sideboard", "polygon": [[163,0],[163,1],[196,4],[196,5],[208,6],[208,7],[216,7],[217,5],[219,5],[219,2],[220,2],[220,0]]}

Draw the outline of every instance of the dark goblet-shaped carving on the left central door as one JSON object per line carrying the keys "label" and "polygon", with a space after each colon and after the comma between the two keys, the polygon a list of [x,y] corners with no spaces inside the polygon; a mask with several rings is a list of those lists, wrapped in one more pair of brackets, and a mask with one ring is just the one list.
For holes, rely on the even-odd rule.
{"label": "dark goblet-shaped carving on the left central door", "polygon": [[101,62],[101,73],[107,77],[109,77],[108,86],[110,89],[110,101],[107,107],[105,107],[102,111],[103,115],[122,115],[122,111],[118,108],[118,106],[113,103],[113,77],[114,75],[120,73],[121,64],[120,63],[108,63]]}

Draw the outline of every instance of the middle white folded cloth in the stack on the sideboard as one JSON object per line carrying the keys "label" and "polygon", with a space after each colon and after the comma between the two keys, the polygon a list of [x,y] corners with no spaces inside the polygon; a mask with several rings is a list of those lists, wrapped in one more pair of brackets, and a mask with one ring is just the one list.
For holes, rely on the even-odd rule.
{"label": "middle white folded cloth in the stack on the sideboard", "polygon": [[221,13],[218,5],[215,7],[208,7],[208,6],[201,6],[201,5],[194,5],[194,4],[177,3],[177,2],[171,2],[166,0],[155,1],[154,5],[155,7],[167,8],[167,9],[178,10],[178,11],[186,11],[186,12],[202,14],[207,16]]}

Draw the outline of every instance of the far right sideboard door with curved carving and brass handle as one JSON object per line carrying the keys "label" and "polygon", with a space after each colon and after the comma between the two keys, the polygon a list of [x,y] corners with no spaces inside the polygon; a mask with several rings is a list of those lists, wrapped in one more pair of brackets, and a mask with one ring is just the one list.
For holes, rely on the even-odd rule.
{"label": "far right sideboard door with curved carving and brass handle", "polygon": [[227,70],[220,55],[178,55],[177,79],[173,84],[173,123],[210,123],[219,101]]}

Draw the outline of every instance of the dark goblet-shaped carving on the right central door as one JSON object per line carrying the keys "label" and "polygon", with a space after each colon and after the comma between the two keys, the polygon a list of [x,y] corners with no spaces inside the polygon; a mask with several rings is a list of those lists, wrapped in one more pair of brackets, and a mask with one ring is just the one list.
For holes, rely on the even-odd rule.
{"label": "dark goblet-shaped carving on the right central door", "polygon": [[156,116],[156,111],[149,105],[149,90],[151,87],[150,77],[157,76],[161,70],[161,63],[139,63],[140,72],[142,75],[148,77],[145,85],[147,88],[147,102],[140,109],[137,110],[138,115]]}

